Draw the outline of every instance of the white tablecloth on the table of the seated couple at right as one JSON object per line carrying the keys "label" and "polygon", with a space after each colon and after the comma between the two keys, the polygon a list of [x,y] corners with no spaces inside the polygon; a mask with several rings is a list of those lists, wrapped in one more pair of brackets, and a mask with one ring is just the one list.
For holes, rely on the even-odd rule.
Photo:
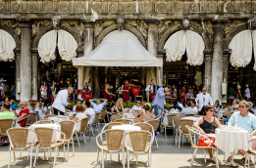
{"label": "white tablecloth on the table of the seated couple at right", "polygon": [[245,130],[216,129],[215,146],[223,150],[227,160],[234,149],[248,150],[247,142],[250,140],[249,133]]}

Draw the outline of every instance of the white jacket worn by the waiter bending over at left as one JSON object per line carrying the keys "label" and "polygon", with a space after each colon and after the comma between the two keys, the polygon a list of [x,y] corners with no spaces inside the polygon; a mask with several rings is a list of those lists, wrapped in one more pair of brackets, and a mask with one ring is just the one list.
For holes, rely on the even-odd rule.
{"label": "white jacket worn by the waiter bending over at left", "polygon": [[68,105],[68,99],[69,99],[68,90],[67,89],[61,90],[57,94],[57,97],[55,98],[52,106],[62,112],[65,112],[66,110],[65,106]]}

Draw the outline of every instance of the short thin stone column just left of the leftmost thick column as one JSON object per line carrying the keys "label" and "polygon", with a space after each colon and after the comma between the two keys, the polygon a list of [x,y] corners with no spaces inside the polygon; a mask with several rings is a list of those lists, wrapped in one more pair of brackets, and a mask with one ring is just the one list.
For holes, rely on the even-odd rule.
{"label": "short thin stone column just left of the leftmost thick column", "polygon": [[16,52],[16,99],[21,101],[21,51]]}

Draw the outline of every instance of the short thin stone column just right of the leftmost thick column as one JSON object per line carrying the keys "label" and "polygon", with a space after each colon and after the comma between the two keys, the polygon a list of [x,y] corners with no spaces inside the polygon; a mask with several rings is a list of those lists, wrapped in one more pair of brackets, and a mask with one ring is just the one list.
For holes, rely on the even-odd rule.
{"label": "short thin stone column just right of the leftmost thick column", "polygon": [[32,52],[32,101],[38,100],[38,54],[36,51]]}

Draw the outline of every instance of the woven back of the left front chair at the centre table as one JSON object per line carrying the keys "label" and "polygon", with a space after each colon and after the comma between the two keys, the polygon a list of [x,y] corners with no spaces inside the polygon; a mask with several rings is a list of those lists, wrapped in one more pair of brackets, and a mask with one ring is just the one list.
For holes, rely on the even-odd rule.
{"label": "woven back of the left front chair at the centre table", "polygon": [[122,148],[124,134],[124,130],[106,130],[105,137],[108,150],[119,151]]}

